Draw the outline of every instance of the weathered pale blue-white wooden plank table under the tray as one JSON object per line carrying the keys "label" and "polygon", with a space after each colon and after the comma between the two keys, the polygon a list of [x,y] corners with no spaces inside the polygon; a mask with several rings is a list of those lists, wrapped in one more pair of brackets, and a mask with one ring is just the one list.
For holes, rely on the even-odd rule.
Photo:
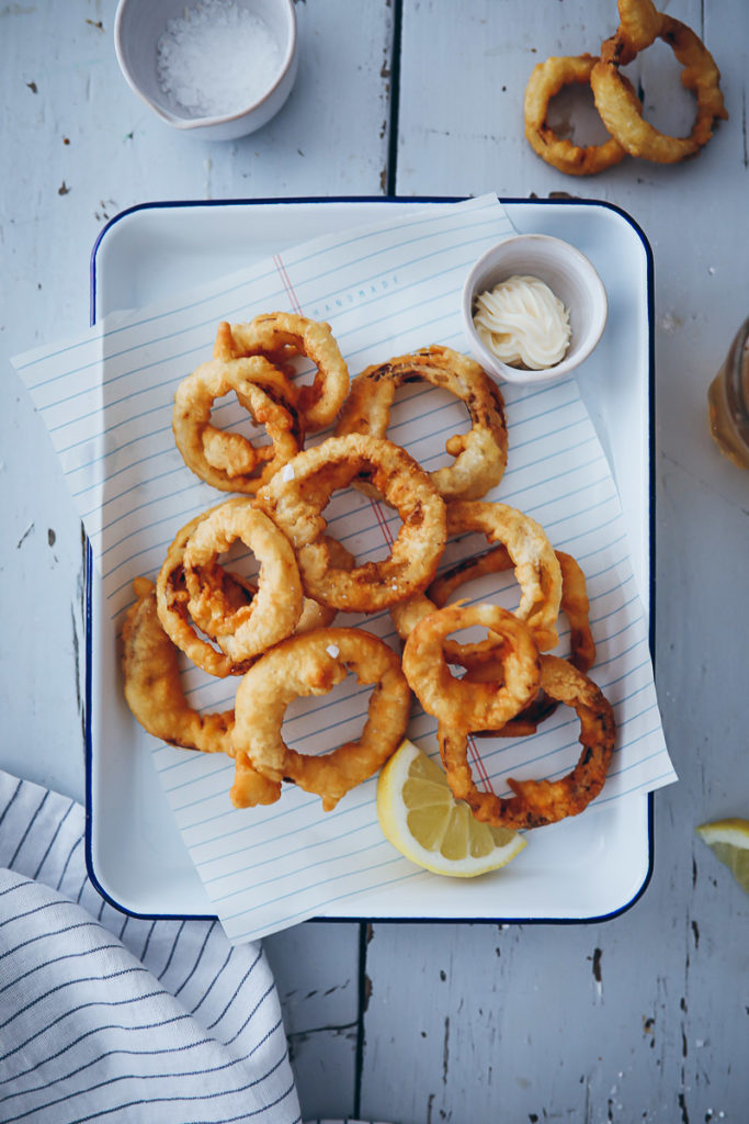
{"label": "weathered pale blue-white wooden plank table under the tray", "polygon": [[[593,926],[307,924],[267,941],[304,1114],[437,1121],[749,1120],[749,903],[695,824],[749,815],[749,475],[705,392],[749,312],[743,0],[674,0],[706,40],[730,120],[672,167],[591,180],[522,133],[531,67],[595,53],[613,0],[302,0],[282,114],[232,144],[171,132],[130,93],[115,0],[0,7],[4,356],[82,328],[108,218],[157,199],[504,198],[572,192],[643,228],[656,271],[656,679],[679,782],[655,799],[655,872]],[[684,130],[666,47],[632,67]],[[585,115],[563,94],[560,127]],[[82,538],[9,364],[0,381],[0,763],[83,796]]]}

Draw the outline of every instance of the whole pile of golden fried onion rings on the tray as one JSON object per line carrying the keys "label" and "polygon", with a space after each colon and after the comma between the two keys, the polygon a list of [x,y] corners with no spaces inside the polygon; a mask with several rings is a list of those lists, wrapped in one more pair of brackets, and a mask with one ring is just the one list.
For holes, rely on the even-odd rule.
{"label": "whole pile of golden fried onion rings on the tray", "polygon": [[[301,390],[290,365],[300,354],[317,368],[312,384]],[[451,391],[472,419],[467,435],[447,443],[455,463],[432,473],[385,436],[396,388],[414,379]],[[398,747],[413,689],[438,718],[454,791],[478,818],[528,827],[576,814],[603,782],[613,725],[609,704],[575,668],[586,670],[595,652],[582,571],[554,551],[528,515],[477,498],[506,463],[501,393],[466,356],[420,348],[363,372],[336,435],[303,448],[304,429],[334,422],[347,388],[346,364],[328,325],[292,314],[219,325],[213,359],[177,390],[174,429],[193,471],[240,495],[177,532],[155,588],[136,580],[122,629],[133,714],[170,744],[231,756],[237,807],[274,803],[290,782],[318,794],[330,810]],[[271,445],[256,450],[211,424],[212,402],[229,390],[266,424]],[[390,553],[383,561],[357,565],[327,534],[328,502],[351,484],[401,518],[394,540],[385,534]],[[448,535],[468,533],[483,534],[493,549],[436,578]],[[257,577],[237,569],[236,550],[229,554],[238,541],[255,556]],[[520,587],[514,613],[496,605],[445,606],[463,581],[508,569]],[[390,610],[404,641],[402,656],[362,627],[332,627],[339,610]],[[540,654],[557,643],[560,610],[570,625],[569,661]],[[485,638],[449,638],[467,626],[484,628]],[[181,653],[211,676],[243,677],[234,709],[200,714],[190,706]],[[463,678],[450,664],[464,667]],[[373,687],[362,736],[319,756],[286,744],[286,706],[326,694],[349,672]],[[484,799],[465,761],[467,740],[484,732],[529,733],[557,701],[581,715],[584,760],[564,782],[515,788],[512,781],[514,804]]]}

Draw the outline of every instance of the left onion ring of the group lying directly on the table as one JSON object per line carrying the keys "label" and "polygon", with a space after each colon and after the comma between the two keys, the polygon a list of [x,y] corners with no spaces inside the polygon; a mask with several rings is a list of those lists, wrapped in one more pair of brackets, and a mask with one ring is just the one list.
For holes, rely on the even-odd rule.
{"label": "left onion ring of the group lying directly on the table", "polygon": [[[558,136],[547,120],[551,98],[573,82],[587,85],[597,62],[595,55],[552,55],[533,67],[526,87],[526,138],[541,160],[567,175],[595,175],[613,167],[627,155],[613,136],[603,144],[582,146],[568,137]],[[621,80],[627,83],[631,97],[639,106],[631,84],[623,75]]]}

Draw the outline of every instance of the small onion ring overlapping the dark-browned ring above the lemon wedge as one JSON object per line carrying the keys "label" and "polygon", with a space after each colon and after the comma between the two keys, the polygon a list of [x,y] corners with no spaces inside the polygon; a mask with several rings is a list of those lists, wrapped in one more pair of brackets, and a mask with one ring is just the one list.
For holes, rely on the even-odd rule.
{"label": "small onion ring overlapping the dark-browned ring above the lemon wedge", "polygon": [[[447,664],[445,638],[460,628],[490,629],[503,682],[471,683]],[[527,625],[497,605],[456,602],[423,617],[403,647],[403,671],[427,714],[458,729],[495,729],[522,710],[539,686],[539,654]]]}

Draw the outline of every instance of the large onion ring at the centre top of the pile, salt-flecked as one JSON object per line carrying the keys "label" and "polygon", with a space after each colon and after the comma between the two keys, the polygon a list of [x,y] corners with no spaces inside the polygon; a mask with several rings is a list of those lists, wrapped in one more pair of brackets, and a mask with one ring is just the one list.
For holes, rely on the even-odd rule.
{"label": "large onion ring at the centre top of the pile, salt-flecked", "polygon": [[[362,475],[398,510],[402,526],[386,559],[344,570],[331,559],[322,510],[334,491]],[[256,504],[294,547],[307,596],[349,613],[375,613],[424,589],[445,546],[441,496],[412,456],[380,437],[349,434],[304,450]]]}

